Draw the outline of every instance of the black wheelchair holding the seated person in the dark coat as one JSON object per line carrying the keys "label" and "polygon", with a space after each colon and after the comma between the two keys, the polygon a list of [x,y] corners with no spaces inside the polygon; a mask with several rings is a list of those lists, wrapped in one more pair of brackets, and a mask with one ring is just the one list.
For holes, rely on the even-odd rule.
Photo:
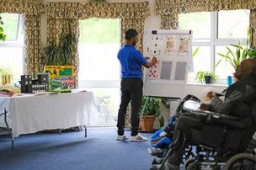
{"label": "black wheelchair holding the seated person in the dark coat", "polygon": [[[179,139],[182,140],[173,141],[181,142],[181,146],[189,148],[189,151],[193,148],[193,155],[185,157],[184,169],[256,169],[256,142],[253,140],[256,113],[242,121],[237,117],[187,107],[193,104],[195,105],[194,101],[184,103],[185,113],[179,117],[179,121],[189,121],[192,124],[201,122],[202,125],[182,130],[179,133]],[[152,163],[151,169],[168,169],[164,164],[172,154],[172,144],[161,161]]]}

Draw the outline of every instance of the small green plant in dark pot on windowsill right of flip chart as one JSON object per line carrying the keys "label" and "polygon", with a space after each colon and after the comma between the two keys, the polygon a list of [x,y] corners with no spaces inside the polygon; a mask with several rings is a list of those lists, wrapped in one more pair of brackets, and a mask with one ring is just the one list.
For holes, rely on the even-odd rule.
{"label": "small green plant in dark pot on windowsill right of flip chart", "polygon": [[195,80],[197,80],[200,83],[212,83],[212,82],[216,82],[216,74],[215,72],[197,72],[196,73],[196,77]]}

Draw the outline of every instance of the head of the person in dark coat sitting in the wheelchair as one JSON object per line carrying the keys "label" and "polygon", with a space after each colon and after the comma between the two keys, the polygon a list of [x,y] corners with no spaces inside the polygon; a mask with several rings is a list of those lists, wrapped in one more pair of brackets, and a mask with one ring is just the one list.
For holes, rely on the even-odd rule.
{"label": "head of the person in dark coat sitting in the wheelchair", "polygon": [[256,58],[249,58],[241,62],[239,66],[237,66],[236,72],[234,73],[234,77],[237,77],[238,80],[248,75],[249,73],[256,72]]}

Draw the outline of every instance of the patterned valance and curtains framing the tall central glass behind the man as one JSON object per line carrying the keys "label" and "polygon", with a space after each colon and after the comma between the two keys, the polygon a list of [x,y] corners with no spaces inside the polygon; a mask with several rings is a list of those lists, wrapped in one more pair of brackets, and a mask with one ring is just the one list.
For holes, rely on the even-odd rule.
{"label": "patterned valance and curtains framing the tall central glass behind the man", "polygon": [[[72,22],[73,34],[79,35],[78,19],[121,19],[121,42],[125,42],[124,32],[127,29],[136,29],[141,35],[137,46],[142,50],[142,36],[144,21],[149,16],[149,3],[47,3],[48,42],[56,42],[57,35],[65,29],[68,20]],[[78,40],[77,40],[78,43]],[[77,54],[77,52],[76,52]],[[79,68],[78,55],[72,56],[76,67],[76,77]],[[77,79],[78,80],[78,79]],[[77,81],[78,82],[78,81]],[[78,84],[76,82],[76,87]]]}

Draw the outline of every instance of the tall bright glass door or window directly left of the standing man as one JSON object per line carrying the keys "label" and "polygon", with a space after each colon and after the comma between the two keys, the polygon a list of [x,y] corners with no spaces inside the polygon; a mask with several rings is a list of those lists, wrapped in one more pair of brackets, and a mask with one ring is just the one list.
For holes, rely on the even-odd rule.
{"label": "tall bright glass door or window directly left of the standing man", "polygon": [[114,123],[120,104],[120,19],[80,21],[79,86],[101,98],[102,123]]}

